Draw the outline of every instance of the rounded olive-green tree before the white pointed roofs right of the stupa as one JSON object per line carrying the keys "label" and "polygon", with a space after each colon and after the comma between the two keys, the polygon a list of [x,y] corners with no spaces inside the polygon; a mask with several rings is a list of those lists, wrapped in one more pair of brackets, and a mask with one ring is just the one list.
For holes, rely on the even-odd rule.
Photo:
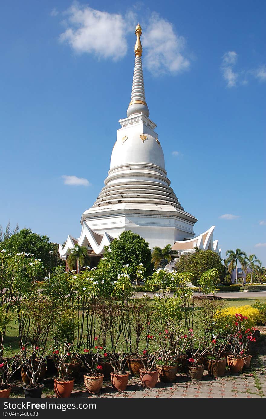
{"label": "rounded olive-green tree before the white pointed roofs right of the stupa", "polygon": [[220,256],[212,250],[196,249],[195,253],[182,255],[176,264],[177,272],[191,272],[193,275],[192,283],[197,285],[201,275],[208,269],[216,268],[219,279],[224,276],[225,266],[222,264]]}

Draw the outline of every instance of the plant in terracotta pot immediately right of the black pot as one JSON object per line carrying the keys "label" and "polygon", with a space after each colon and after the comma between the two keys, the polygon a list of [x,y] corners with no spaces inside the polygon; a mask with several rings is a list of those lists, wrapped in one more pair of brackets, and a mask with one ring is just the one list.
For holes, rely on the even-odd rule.
{"label": "plant in terracotta pot immediately right of the black pot", "polygon": [[74,387],[74,378],[71,375],[72,349],[73,344],[65,342],[53,351],[54,364],[59,375],[58,378],[54,378],[54,392],[58,398],[70,397]]}

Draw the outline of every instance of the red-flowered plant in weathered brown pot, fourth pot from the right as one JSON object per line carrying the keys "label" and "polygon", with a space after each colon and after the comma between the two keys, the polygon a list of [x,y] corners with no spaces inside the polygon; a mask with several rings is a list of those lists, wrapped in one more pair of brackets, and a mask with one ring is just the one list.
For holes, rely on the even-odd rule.
{"label": "red-flowered plant in weathered brown pot, fourth pot from the right", "polygon": [[189,358],[189,376],[192,381],[200,381],[204,373],[202,360],[204,354],[209,350],[209,345],[203,336],[194,334],[194,331],[190,329],[188,334],[188,350],[191,354]]}

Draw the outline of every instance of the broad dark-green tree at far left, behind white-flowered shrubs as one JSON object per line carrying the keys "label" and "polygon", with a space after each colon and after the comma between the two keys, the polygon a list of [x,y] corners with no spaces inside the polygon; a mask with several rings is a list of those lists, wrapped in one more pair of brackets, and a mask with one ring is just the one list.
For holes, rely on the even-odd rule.
{"label": "broad dark-green tree at far left, behind white-flowered shrubs", "polygon": [[[36,259],[41,259],[46,276],[49,275],[50,264],[51,269],[62,265],[62,260],[59,258],[58,253],[58,244],[50,242],[47,235],[40,236],[33,233],[30,229],[23,228],[17,233],[11,234],[9,238],[0,242],[1,249],[5,249],[12,255],[26,252],[34,255]],[[52,251],[52,254],[49,253],[50,251]],[[38,279],[42,279],[42,277]]]}

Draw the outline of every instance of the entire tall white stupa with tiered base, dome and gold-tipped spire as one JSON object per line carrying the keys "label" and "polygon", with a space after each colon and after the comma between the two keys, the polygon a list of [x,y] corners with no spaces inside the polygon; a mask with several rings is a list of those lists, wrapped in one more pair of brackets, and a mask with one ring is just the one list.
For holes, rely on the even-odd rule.
{"label": "entire tall white stupa with tiered base, dome and gold-tipped spire", "polygon": [[101,255],[103,247],[125,230],[145,238],[151,249],[164,248],[168,243],[174,245],[177,241],[193,242],[197,220],[184,211],[170,188],[163,149],[154,131],[156,124],[149,119],[139,24],[135,34],[135,65],[127,118],[119,120],[121,128],[117,130],[105,186],[81,217],[80,238],[69,235],[64,248],[59,245],[59,254],[64,260],[76,243],[88,246],[92,256]]}

